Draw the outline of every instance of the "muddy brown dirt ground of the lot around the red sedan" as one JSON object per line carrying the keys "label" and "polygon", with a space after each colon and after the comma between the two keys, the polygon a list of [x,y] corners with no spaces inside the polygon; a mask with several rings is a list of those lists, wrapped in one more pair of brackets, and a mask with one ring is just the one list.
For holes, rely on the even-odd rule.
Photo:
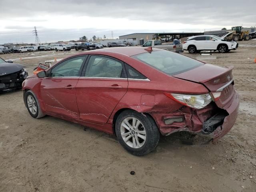
{"label": "muddy brown dirt ground of the lot around the red sedan", "polygon": [[[33,119],[21,90],[0,94],[0,191],[255,192],[256,40],[239,44],[238,50],[225,54],[184,52],[211,64],[234,66],[240,112],[232,130],[215,143],[184,144],[176,133],[160,137],[150,154],[132,156],[114,136],[50,116]],[[0,57],[16,59],[32,74],[39,62],[74,52]]]}

